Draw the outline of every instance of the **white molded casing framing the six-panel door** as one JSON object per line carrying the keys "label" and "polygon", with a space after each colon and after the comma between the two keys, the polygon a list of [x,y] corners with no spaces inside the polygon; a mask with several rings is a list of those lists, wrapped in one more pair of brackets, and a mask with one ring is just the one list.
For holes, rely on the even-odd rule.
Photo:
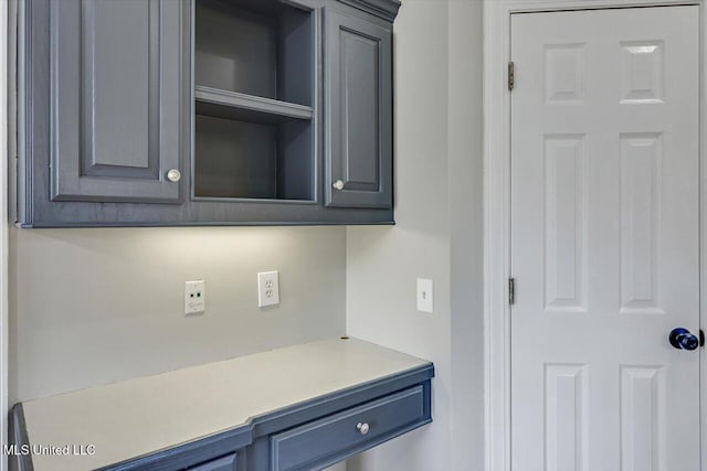
{"label": "white molded casing framing the six-panel door", "polygon": [[[707,0],[484,0],[484,436],[485,470],[510,471],[510,14],[630,7],[699,6],[700,328],[707,327]],[[707,349],[700,349],[707,392]],[[707,395],[700,394],[701,470],[707,471]],[[701,411],[701,413],[700,413]]]}

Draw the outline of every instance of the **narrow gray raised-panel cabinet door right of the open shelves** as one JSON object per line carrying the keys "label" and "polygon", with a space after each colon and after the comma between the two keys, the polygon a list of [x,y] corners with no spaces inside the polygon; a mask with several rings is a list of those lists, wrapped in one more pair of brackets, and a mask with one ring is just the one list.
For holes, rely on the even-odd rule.
{"label": "narrow gray raised-panel cabinet door right of the open shelves", "polygon": [[392,31],[331,10],[325,22],[326,205],[391,207]]}

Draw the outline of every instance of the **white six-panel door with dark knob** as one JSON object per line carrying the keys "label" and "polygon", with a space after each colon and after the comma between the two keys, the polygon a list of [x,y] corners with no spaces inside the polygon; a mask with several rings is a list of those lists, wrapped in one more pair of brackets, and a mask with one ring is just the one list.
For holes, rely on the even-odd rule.
{"label": "white six-panel door with dark knob", "polygon": [[698,471],[698,7],[511,15],[513,471]]}

